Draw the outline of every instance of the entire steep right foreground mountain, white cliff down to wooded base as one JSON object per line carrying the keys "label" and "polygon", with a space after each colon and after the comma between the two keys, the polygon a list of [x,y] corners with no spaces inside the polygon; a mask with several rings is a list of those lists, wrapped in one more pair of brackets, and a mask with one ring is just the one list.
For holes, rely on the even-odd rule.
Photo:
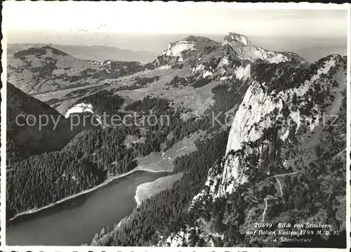
{"label": "entire steep right foreground mountain, white cliff down to wooded base", "polygon": [[[279,85],[288,65],[274,74],[267,72],[272,65],[260,74],[251,68],[225,157],[210,168],[204,190],[187,209],[195,216],[187,225],[191,244],[203,239],[206,246],[282,246],[271,242],[274,235],[246,235],[265,221],[345,230],[345,66],[345,57],[328,55],[303,74],[296,74],[300,68],[289,72]],[[179,235],[171,234],[168,244],[182,246]]]}

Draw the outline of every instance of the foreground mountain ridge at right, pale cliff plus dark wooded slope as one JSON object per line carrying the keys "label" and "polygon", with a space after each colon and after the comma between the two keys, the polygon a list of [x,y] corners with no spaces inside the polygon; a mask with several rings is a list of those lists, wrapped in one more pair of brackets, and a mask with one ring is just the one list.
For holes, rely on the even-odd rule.
{"label": "foreground mountain ridge at right, pale cliff plus dark wooded slope", "polygon": [[[195,224],[187,232],[183,230],[167,237],[166,241],[168,241],[168,244],[171,244],[171,246],[180,246],[183,242],[196,244],[195,238],[197,235],[194,235],[194,232],[199,234],[200,237],[202,235],[203,238],[208,237],[208,239],[212,239],[212,242],[215,244],[218,244],[218,242],[223,244],[223,242],[227,242],[225,239],[228,239],[228,237],[225,238],[220,234],[226,233],[225,228],[228,228],[228,225],[230,227],[234,225],[234,228],[238,230],[237,240],[239,240],[239,244],[236,244],[234,241],[236,246],[249,246],[252,243],[262,244],[263,240],[265,240],[264,246],[277,246],[276,243],[270,243],[272,239],[245,237],[246,231],[250,229],[254,222],[265,221],[272,223],[288,223],[291,220],[294,223],[314,223],[317,221],[329,223],[331,225],[328,229],[329,232],[345,230],[345,209],[343,209],[343,206],[345,206],[345,199],[343,199],[345,187],[336,190],[336,187],[333,185],[329,185],[333,189],[325,189],[323,186],[324,183],[329,183],[328,180],[325,181],[324,177],[326,174],[329,174],[326,178],[335,181],[340,186],[345,182],[345,170],[343,169],[345,167],[343,166],[345,157],[340,156],[340,154],[345,152],[345,133],[343,133],[346,120],[345,93],[343,93],[346,88],[345,64],[345,58],[340,55],[328,55],[310,67],[310,73],[303,84],[298,84],[296,87],[287,89],[287,91],[280,91],[279,93],[273,92],[274,90],[267,91],[267,88],[264,90],[262,85],[253,81],[253,84],[246,91],[246,95],[232,122],[224,159],[220,159],[208,171],[205,189],[197,194],[192,201],[192,206],[197,210],[190,208],[189,212],[199,217],[193,220]],[[314,92],[317,92],[317,95]],[[325,96],[319,95],[322,93]],[[256,99],[257,104],[253,102]],[[306,101],[304,101],[305,99]],[[340,125],[335,128],[331,128],[330,121],[326,125],[321,124],[324,112],[328,112],[330,109],[334,111],[339,110],[340,113],[338,114]],[[303,114],[300,115],[300,112]],[[304,117],[302,117],[303,115]],[[282,117],[284,121],[286,120],[284,117],[288,119],[290,117],[293,123],[283,124],[282,126],[277,124],[275,126],[274,121],[276,123],[278,121],[274,118],[279,117]],[[320,132],[321,128],[322,132],[325,131],[324,128],[328,128],[328,131],[335,131],[336,133],[331,133],[335,135],[333,142],[340,143],[340,148],[333,152],[331,160],[318,153],[320,149],[324,152],[328,150],[328,147],[320,147],[321,145],[331,145],[330,142],[326,143],[326,138],[330,140],[329,133]],[[320,140],[317,140],[316,135]],[[309,140],[308,138],[311,139]],[[305,154],[300,153],[303,159],[300,159],[299,154],[294,152],[291,147],[286,147],[289,145],[298,147],[300,152],[305,150]],[[304,147],[304,145],[308,147]],[[316,152],[310,145],[315,148]],[[282,146],[289,151],[284,150]],[[293,159],[293,161],[289,159]],[[321,162],[321,159],[324,161]],[[333,166],[333,159],[338,160],[337,162],[340,166]],[[324,166],[318,166],[321,163],[324,163]],[[319,169],[319,167],[320,171],[314,170],[315,168]],[[297,175],[298,173],[304,175]],[[318,178],[314,177],[316,174]],[[311,179],[318,180],[317,184],[312,183]],[[339,180],[343,182],[336,182]],[[305,185],[299,186],[298,182],[305,183]],[[261,184],[266,184],[267,187]],[[300,200],[301,202],[298,201],[296,197],[301,196],[300,194],[293,194],[291,190],[294,187],[303,190],[305,193],[304,197],[312,197],[312,199],[314,199],[313,195],[316,192],[309,188],[315,189],[318,187],[319,193],[329,194],[332,203],[322,203],[321,207],[324,210],[316,209],[316,206],[308,199],[306,201],[302,199]],[[256,192],[256,194],[259,194],[259,190],[263,189],[265,189],[263,196],[255,196],[252,193]],[[336,195],[333,193],[330,195],[330,192],[335,192]],[[216,206],[220,207],[220,205],[218,206],[220,202],[235,201],[239,199],[238,197],[241,201],[246,201],[248,205],[246,207],[245,204],[237,205],[236,208],[238,209],[234,211],[234,215],[228,211],[224,216],[219,215],[214,220],[212,220],[213,217],[211,220],[206,220],[204,215],[206,211],[203,212],[204,210],[199,207],[201,204],[209,204],[211,201],[213,201],[213,205],[210,205],[213,208]],[[304,204],[307,204],[307,209],[310,213],[305,216],[284,212],[284,207],[282,208],[282,206],[286,202],[293,201],[289,200],[289,197],[294,197],[296,200],[296,209],[292,208],[291,211],[298,212],[299,209],[304,211]],[[340,197],[340,201],[335,197]],[[210,198],[209,201],[208,198]],[[258,202],[262,203],[249,203],[252,201],[252,198],[258,198]],[[281,208],[277,208],[278,205]],[[338,205],[340,205],[340,208]],[[331,206],[336,206],[336,208]],[[287,210],[290,208],[291,206],[286,206]],[[239,211],[242,211],[242,213],[239,213]],[[253,213],[253,211],[258,213]],[[283,211],[283,213],[279,211]],[[235,217],[236,212],[239,213],[239,217]],[[324,215],[325,212],[327,212],[327,215]],[[243,219],[244,217],[240,216],[245,216],[245,220]],[[231,218],[234,218],[234,222],[232,222]],[[216,220],[223,224],[216,223]],[[206,233],[204,228],[209,223],[213,223],[214,227],[211,226],[212,230]],[[239,238],[240,236],[241,238]],[[326,240],[328,237],[322,236],[323,239]],[[164,245],[162,242],[161,244]],[[279,242],[279,244],[282,246],[282,243]],[[329,246],[336,246],[336,244]]]}

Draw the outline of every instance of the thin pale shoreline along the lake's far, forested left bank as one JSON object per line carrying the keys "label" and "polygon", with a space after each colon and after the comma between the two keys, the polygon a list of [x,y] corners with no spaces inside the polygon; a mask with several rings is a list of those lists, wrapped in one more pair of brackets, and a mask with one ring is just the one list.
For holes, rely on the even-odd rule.
{"label": "thin pale shoreline along the lake's far, forested left bank", "polygon": [[72,195],[70,195],[70,196],[68,196],[68,197],[65,197],[65,198],[63,198],[63,199],[60,199],[60,200],[58,200],[58,201],[55,201],[55,202],[53,202],[53,203],[51,203],[51,204],[48,204],[48,205],[46,205],[46,206],[42,206],[41,208],[32,208],[32,209],[30,209],[30,210],[17,213],[17,214],[14,215],[11,219],[6,220],[6,225],[7,225],[9,222],[15,220],[16,218],[18,218],[18,217],[20,217],[20,216],[22,216],[22,215],[29,215],[29,214],[32,214],[32,213],[37,213],[37,212],[39,212],[39,211],[43,211],[43,210],[46,209],[46,208],[51,208],[51,207],[53,207],[53,206],[55,206],[55,205],[61,204],[62,202],[65,202],[65,201],[67,201],[67,200],[69,200],[69,199],[74,199],[74,198],[79,197],[79,196],[81,196],[81,195],[83,195],[83,194],[87,194],[87,193],[89,193],[89,192],[93,192],[94,190],[97,190],[98,188],[103,187],[103,186],[105,186],[105,185],[111,183],[112,181],[114,181],[114,180],[116,180],[116,179],[118,179],[118,178],[123,178],[123,177],[125,177],[125,176],[127,176],[127,175],[131,175],[131,174],[134,173],[135,171],[148,171],[148,172],[150,172],[150,173],[162,173],[162,172],[168,172],[168,173],[170,173],[170,171],[166,171],[166,170],[152,170],[152,169],[149,169],[149,168],[134,168],[133,170],[128,171],[128,172],[126,172],[126,173],[122,173],[122,174],[118,174],[118,175],[114,175],[114,176],[112,176],[112,177],[109,177],[109,178],[107,178],[104,182],[100,183],[99,185],[95,185],[94,187],[91,187],[91,188],[88,189],[88,190],[84,190],[84,191],[78,192],[77,194],[72,194]]}

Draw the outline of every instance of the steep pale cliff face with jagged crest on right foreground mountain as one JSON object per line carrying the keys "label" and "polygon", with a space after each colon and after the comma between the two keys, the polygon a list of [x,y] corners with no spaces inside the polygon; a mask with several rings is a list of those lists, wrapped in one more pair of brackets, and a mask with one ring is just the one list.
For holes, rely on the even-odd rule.
{"label": "steep pale cliff face with jagged crest on right foreground mountain", "polygon": [[[223,174],[219,181],[218,178],[211,178],[211,175],[209,178],[215,181],[211,186],[214,197],[230,193],[236,185],[247,181],[245,171],[251,167],[245,166],[243,160],[253,152],[260,153],[265,145],[270,145],[265,131],[272,126],[281,124],[278,137],[283,142],[289,141],[288,136],[296,134],[302,127],[305,131],[314,130],[314,127],[319,124],[319,119],[322,119],[322,105],[316,102],[317,96],[314,94],[321,88],[325,90],[331,88],[326,76],[340,67],[341,60],[340,55],[324,58],[319,62],[317,71],[311,72],[310,77],[303,83],[279,93],[275,90],[268,92],[265,83],[252,81],[234,116],[227,141],[227,159]],[[306,95],[314,102],[308,103],[305,100]],[[301,112],[306,109],[314,113],[302,114]],[[251,143],[255,142],[263,142],[263,145],[251,147]],[[218,185],[218,188],[215,185]]]}

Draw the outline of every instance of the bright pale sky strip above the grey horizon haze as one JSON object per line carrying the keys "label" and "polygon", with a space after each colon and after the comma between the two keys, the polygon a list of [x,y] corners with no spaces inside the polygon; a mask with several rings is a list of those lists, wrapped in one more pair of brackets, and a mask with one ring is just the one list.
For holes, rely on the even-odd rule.
{"label": "bright pale sky strip above the grey horizon haze", "polygon": [[[230,8],[231,7],[231,8]],[[257,10],[235,4],[6,1],[8,32],[130,32],[346,37],[344,10]]]}

